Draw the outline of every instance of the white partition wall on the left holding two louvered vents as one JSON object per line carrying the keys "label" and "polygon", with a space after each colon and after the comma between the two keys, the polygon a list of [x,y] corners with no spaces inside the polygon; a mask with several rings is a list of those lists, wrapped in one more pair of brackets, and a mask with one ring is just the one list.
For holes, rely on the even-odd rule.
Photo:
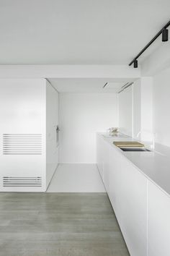
{"label": "white partition wall on the left holding two louvered vents", "polygon": [[[48,186],[47,86],[45,79],[0,80],[1,191],[45,191]],[[47,130],[54,140],[55,129]]]}

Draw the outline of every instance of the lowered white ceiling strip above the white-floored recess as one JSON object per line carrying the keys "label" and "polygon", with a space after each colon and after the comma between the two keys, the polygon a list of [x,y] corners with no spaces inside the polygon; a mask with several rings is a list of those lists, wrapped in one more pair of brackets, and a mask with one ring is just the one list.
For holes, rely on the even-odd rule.
{"label": "lowered white ceiling strip above the white-floored recess", "polygon": [[[59,93],[117,93],[125,83],[134,79],[51,78],[48,81]],[[106,82],[108,84],[103,88]]]}

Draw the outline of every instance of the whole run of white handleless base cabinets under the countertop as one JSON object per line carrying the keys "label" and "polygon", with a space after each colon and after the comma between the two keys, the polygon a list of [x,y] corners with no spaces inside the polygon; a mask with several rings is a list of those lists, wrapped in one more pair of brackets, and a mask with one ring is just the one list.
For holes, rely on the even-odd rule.
{"label": "whole run of white handleless base cabinets under the countertop", "polygon": [[[108,161],[108,195],[131,256],[170,255],[170,197],[123,153],[97,135],[97,160]],[[107,145],[107,150],[106,150]],[[106,157],[106,153],[109,155]],[[100,166],[99,162],[97,165]],[[103,179],[106,182],[106,179]]]}

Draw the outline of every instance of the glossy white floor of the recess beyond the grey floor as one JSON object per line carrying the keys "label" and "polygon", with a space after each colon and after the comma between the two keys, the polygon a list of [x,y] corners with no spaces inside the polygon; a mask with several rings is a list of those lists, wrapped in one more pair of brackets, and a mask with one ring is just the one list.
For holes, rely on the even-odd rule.
{"label": "glossy white floor of the recess beyond the grey floor", "polygon": [[47,192],[105,192],[95,164],[60,164]]}

